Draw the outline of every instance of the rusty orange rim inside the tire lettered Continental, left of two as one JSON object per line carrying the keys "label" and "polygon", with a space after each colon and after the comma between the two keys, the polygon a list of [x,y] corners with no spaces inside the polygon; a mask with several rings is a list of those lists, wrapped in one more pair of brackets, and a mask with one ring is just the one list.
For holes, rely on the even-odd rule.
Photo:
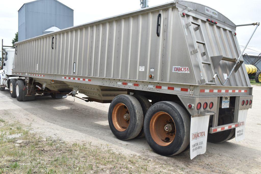
{"label": "rusty orange rim inside the tire lettered Continental, left of two", "polygon": [[123,103],[118,103],[112,111],[112,123],[118,131],[128,128],[130,122],[129,110]]}

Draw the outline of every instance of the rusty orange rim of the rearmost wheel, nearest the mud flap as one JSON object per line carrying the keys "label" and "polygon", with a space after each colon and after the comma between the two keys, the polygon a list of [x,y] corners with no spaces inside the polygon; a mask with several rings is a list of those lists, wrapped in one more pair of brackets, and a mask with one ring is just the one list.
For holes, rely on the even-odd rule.
{"label": "rusty orange rim of the rearmost wheel, nearest the mud flap", "polygon": [[166,112],[155,113],[150,121],[152,139],[160,146],[168,146],[176,135],[176,127],[171,116]]}

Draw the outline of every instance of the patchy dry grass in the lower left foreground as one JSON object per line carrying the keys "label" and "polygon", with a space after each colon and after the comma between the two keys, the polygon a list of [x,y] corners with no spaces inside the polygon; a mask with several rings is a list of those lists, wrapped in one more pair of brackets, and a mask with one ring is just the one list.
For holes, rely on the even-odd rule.
{"label": "patchy dry grass in the lower left foreground", "polygon": [[28,131],[28,128],[19,122],[8,124],[5,121],[2,124],[0,174],[168,173],[169,169],[173,168],[166,164],[162,166],[145,157],[116,153],[109,145],[94,146],[91,142],[66,143],[51,137],[44,139]]}

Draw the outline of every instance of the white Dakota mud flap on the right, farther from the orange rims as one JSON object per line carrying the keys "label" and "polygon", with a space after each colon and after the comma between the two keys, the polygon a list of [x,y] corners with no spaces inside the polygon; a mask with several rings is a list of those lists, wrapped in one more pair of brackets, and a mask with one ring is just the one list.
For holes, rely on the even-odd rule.
{"label": "white Dakota mud flap on the right, farther from the orange rims", "polygon": [[246,126],[246,116],[248,109],[243,109],[238,111],[238,122],[239,127],[236,128],[236,142],[245,139],[245,126]]}

